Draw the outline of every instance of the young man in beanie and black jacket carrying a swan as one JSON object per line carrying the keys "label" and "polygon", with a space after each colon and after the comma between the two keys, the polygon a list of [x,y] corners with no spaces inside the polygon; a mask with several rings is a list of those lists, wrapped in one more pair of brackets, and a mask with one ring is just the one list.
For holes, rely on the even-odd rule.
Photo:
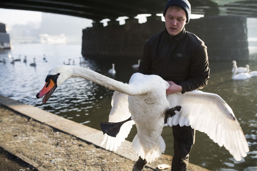
{"label": "young man in beanie and black jacket carrying a swan", "polygon": [[[166,80],[167,94],[202,89],[209,79],[207,47],[193,33],[185,31],[191,5],[187,0],[169,0],[164,7],[165,30],[151,36],[143,46],[138,72],[154,74]],[[183,107],[183,106],[182,106]],[[185,171],[195,130],[190,126],[172,126],[174,156],[172,171]],[[146,161],[139,157],[133,171],[142,170]]]}

